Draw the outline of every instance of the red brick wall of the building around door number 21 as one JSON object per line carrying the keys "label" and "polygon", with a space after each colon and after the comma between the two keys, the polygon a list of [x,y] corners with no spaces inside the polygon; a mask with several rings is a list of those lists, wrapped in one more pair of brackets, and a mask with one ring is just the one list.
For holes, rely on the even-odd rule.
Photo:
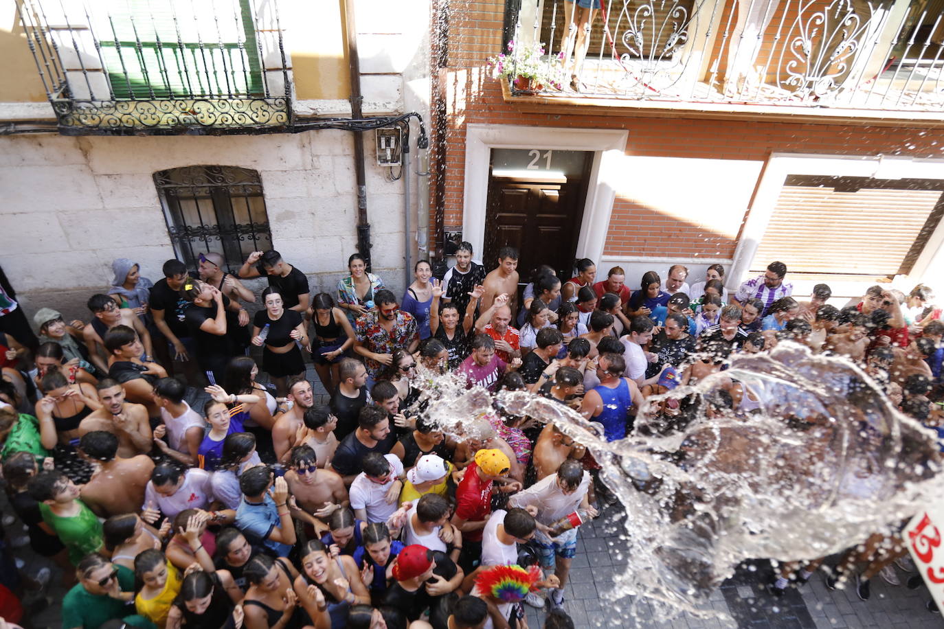
{"label": "red brick wall of the building around door number 21", "polygon": [[[626,129],[627,155],[756,160],[771,153],[875,156],[908,155],[942,157],[944,131],[845,124],[810,124],[806,121],[757,122],[699,120],[693,118],[610,117],[591,115],[574,108],[572,114],[523,112],[506,104],[497,80],[486,68],[487,58],[499,52],[504,4],[480,0],[464,13],[453,3],[448,20],[448,64],[440,72],[433,98],[443,98],[447,111],[446,154],[438,175],[444,178],[444,220],[447,230],[461,230],[465,125],[524,124],[535,126]],[[684,185],[683,172],[675,173]],[[718,181],[732,190],[754,190],[756,180]],[[430,204],[432,207],[434,204]],[[434,211],[434,210],[431,210]],[[685,222],[644,207],[626,192],[617,194],[606,255],[677,257],[732,257],[736,238],[706,228],[711,217]],[[701,219],[704,223],[701,223]],[[432,219],[430,217],[430,223]],[[666,240],[666,232],[673,238]]]}

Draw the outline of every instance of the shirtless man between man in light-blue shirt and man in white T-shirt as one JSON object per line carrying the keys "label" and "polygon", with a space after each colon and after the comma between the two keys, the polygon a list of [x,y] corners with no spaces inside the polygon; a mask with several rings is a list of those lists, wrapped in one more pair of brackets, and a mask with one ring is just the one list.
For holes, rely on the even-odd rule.
{"label": "shirtless man between man in light-blue shirt and man in white T-shirt", "polygon": [[292,517],[311,524],[321,536],[328,531],[327,521],[331,514],[346,509],[350,499],[341,475],[319,469],[318,463],[314,451],[307,445],[295,446],[289,453],[291,469],[285,472],[285,481],[295,496],[295,507],[289,507]]}

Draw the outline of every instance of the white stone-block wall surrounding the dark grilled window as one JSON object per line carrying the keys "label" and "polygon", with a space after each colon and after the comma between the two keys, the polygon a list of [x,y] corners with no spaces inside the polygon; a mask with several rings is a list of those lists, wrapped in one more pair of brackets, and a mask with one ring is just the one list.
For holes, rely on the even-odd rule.
{"label": "white stone-block wall surrounding the dark grilled window", "polygon": [[[365,135],[368,218],[375,273],[402,294],[403,185],[374,165]],[[344,131],[228,137],[0,138],[0,250],[27,313],[59,307],[87,317],[107,288],[111,260],[130,257],[152,280],[174,257],[152,174],[196,164],[260,172],[276,249],[333,291],[357,250],[352,136]]]}

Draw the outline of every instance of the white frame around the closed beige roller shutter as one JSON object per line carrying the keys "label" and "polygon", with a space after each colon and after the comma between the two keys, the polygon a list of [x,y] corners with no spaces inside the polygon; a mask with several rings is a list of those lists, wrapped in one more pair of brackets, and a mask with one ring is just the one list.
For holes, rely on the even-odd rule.
{"label": "white frame around the closed beige roller shutter", "polygon": [[[840,177],[874,177],[877,179],[944,179],[944,159],[879,156],[823,156],[773,153],[761,177],[741,238],[734,251],[734,264],[728,273],[727,288],[736,290],[750,271],[750,264],[767,232],[773,210],[791,174]],[[944,258],[944,221],[937,224],[934,234],[921,251],[910,276],[928,273]],[[789,273],[789,270],[787,270]]]}

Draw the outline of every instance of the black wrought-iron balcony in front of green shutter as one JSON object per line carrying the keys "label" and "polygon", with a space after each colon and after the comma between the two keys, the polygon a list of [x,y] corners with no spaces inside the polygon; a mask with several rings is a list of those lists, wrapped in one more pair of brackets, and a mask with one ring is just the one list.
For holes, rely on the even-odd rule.
{"label": "black wrought-iron balcony in front of green shutter", "polygon": [[248,132],[291,122],[275,0],[18,0],[63,134]]}

